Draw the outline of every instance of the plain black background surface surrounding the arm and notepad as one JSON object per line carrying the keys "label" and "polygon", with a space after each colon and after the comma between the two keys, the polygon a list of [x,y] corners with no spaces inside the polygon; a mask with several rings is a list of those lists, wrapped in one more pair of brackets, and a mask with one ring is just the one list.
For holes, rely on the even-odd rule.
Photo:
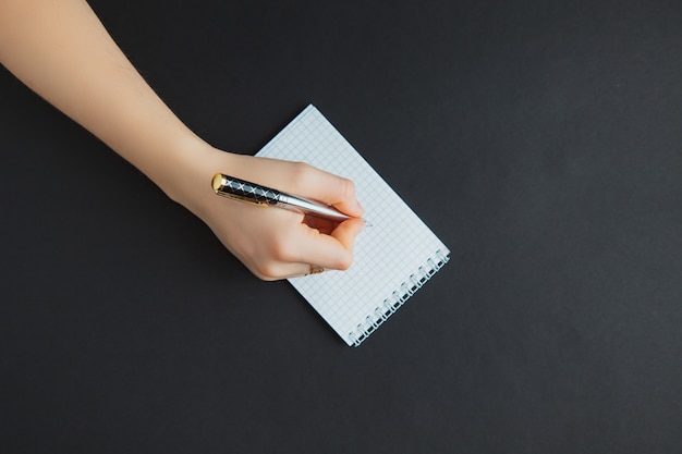
{"label": "plain black background surface surrounding the arm and notepad", "polygon": [[315,103],[452,259],[349,348],[0,70],[3,453],[680,452],[679,2],[92,4],[215,146]]}

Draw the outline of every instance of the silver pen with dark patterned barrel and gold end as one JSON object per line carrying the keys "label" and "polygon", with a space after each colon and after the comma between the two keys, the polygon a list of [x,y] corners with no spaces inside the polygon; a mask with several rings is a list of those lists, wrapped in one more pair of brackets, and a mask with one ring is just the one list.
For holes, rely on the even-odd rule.
{"label": "silver pen with dark patterned barrel and gold end", "polygon": [[217,195],[246,201],[261,207],[279,207],[288,210],[310,214],[316,218],[328,219],[330,221],[343,222],[354,219],[344,214],[331,206],[320,205],[302,197],[292,196],[281,191],[261,186],[244,180],[216,173],[211,185]]}

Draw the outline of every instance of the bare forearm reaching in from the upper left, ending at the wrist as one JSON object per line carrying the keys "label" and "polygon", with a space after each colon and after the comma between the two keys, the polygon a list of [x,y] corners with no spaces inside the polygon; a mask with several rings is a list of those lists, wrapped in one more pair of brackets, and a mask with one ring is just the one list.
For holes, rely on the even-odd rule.
{"label": "bare forearm reaching in from the upper left, ending at the wrist", "polygon": [[205,147],[84,0],[0,0],[0,62],[165,191]]}

